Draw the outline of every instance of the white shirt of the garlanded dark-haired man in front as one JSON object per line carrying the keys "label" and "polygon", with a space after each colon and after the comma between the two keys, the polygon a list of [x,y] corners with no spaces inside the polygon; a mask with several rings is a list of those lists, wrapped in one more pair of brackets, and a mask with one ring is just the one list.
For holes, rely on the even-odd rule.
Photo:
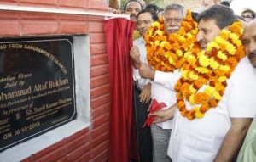
{"label": "white shirt of the garlanded dark-haired man in front", "polygon": [[[253,118],[256,114],[256,75],[247,57],[241,59],[227,83],[218,106],[203,118],[188,120],[176,111],[168,148],[172,161],[212,162],[230,130],[230,118]],[[192,105],[186,102],[186,108]]]}

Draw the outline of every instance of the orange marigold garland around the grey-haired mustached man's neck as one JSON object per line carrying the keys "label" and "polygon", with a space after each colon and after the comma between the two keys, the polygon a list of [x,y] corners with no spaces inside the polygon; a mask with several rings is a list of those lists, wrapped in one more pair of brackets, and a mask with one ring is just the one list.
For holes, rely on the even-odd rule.
{"label": "orange marigold garland around the grey-haired mustached man's neck", "polygon": [[148,64],[154,70],[172,72],[180,69],[183,64],[183,54],[189,50],[189,45],[195,42],[197,23],[188,10],[182,26],[177,33],[166,36],[164,20],[155,21],[145,36],[147,42]]}

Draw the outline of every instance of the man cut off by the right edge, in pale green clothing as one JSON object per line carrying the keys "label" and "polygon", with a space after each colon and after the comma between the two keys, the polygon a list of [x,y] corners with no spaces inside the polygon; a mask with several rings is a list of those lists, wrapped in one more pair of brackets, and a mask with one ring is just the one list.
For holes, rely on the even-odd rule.
{"label": "man cut off by the right edge, in pale green clothing", "polygon": [[[253,65],[256,73],[256,20],[252,20],[246,27],[242,36],[247,57]],[[255,105],[254,105],[255,106]],[[247,132],[237,162],[256,161],[256,115]]]}

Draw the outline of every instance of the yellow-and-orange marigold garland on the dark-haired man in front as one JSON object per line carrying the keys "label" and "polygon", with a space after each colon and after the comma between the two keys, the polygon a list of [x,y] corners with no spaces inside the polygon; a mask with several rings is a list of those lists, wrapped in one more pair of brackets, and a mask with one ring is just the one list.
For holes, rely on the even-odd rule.
{"label": "yellow-and-orange marigold garland on the dark-haired man in front", "polygon": [[[207,51],[201,51],[195,42],[194,47],[184,54],[185,61],[181,69],[183,75],[175,86],[177,108],[181,115],[189,120],[199,119],[207,110],[218,106],[227,87],[227,80],[245,56],[241,44],[242,32],[241,22],[237,21],[229,30],[221,31],[219,36],[208,43]],[[186,109],[184,99],[194,108]]]}

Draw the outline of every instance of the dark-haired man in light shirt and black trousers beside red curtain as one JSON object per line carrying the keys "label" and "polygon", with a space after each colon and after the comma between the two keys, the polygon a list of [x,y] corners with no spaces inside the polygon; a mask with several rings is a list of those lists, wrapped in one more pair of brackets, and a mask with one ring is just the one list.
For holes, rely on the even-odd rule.
{"label": "dark-haired man in light shirt and black trousers beside red curtain", "polygon": [[[147,49],[145,47],[144,36],[148,28],[154,21],[158,20],[156,12],[151,8],[145,8],[137,14],[137,30],[142,35],[133,41],[131,55],[137,55],[147,63]],[[133,110],[137,129],[137,144],[139,148],[140,162],[152,162],[152,137],[150,127],[143,127],[145,120],[148,118],[148,107],[151,99],[151,81],[143,79],[138,70],[133,70],[134,97]]]}

